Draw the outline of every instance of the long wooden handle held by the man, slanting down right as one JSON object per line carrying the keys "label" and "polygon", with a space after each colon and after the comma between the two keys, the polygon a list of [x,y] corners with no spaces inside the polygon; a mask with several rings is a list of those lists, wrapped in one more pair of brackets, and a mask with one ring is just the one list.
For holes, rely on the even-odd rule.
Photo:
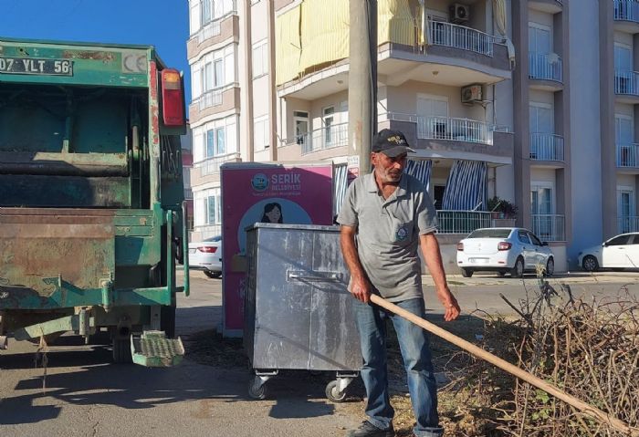
{"label": "long wooden handle held by the man, slanting down right", "polygon": [[439,328],[438,326],[432,324],[431,322],[424,320],[424,318],[417,317],[413,313],[410,313],[401,307],[397,307],[396,305],[392,304],[391,302],[377,295],[371,295],[371,301],[372,303],[379,305],[382,308],[392,311],[398,316],[401,316],[410,320],[415,325],[422,327],[429,332],[432,332],[437,337],[444,338],[446,341],[449,341],[453,343],[454,345],[456,345],[457,347],[466,350],[466,352],[470,352],[471,354],[475,355],[477,358],[485,359],[490,364],[497,366],[499,369],[506,370],[511,375],[515,375],[517,378],[519,378],[519,380],[525,380],[526,382],[529,382],[530,384],[534,385],[538,389],[546,391],[547,393],[560,399],[561,401],[564,401],[570,404],[577,410],[582,411],[585,414],[588,414],[589,416],[592,416],[594,419],[603,423],[607,423],[608,425],[613,427],[615,430],[619,432],[623,432],[632,437],[639,437],[639,429],[631,428],[624,421],[620,421],[619,419],[611,416],[610,414],[607,414],[604,411],[596,407],[593,407],[592,405],[584,401],[581,401],[575,398],[574,396],[571,396],[570,394],[558,389],[557,387],[550,384],[549,382],[546,382],[545,380],[540,380],[535,375],[527,372],[526,370],[519,369],[519,367],[510,364],[505,359],[500,359],[498,356],[493,355],[490,352],[487,352],[486,350],[475,346],[474,344],[466,341],[464,338],[459,338],[456,335],[453,335],[450,332],[446,331],[445,329]]}

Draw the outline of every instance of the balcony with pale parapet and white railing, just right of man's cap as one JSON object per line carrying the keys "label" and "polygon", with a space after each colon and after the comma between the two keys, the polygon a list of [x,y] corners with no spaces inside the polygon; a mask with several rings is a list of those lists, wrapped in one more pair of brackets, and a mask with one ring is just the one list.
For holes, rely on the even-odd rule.
{"label": "balcony with pale parapet and white railing, just right of man's cap", "polygon": [[512,164],[514,137],[508,128],[486,121],[399,112],[380,114],[378,120],[379,129],[402,130],[424,158]]}

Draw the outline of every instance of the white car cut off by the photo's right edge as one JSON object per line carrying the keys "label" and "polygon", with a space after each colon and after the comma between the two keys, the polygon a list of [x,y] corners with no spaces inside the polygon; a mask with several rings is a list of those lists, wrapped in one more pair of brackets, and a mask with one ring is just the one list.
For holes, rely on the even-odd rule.
{"label": "white car cut off by the photo's right edge", "polygon": [[579,265],[588,272],[604,268],[639,268],[639,233],[619,234],[579,253]]}

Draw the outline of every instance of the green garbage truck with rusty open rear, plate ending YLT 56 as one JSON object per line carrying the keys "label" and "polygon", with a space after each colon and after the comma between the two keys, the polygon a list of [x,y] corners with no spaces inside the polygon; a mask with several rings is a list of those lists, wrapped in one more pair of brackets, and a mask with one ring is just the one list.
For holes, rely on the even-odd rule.
{"label": "green garbage truck with rusty open rear, plate ending YLT 56", "polygon": [[70,332],[116,362],[182,359],[185,125],[152,46],[0,37],[0,349]]}

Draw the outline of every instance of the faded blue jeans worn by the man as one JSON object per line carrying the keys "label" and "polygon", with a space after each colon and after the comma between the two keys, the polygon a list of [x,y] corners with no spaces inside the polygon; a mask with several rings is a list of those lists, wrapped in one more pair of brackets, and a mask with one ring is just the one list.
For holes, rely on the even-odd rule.
{"label": "faded blue jeans worn by the man", "polygon": [[[395,302],[395,305],[424,317],[424,299]],[[360,331],[363,366],[361,379],[366,387],[368,403],[366,414],[378,428],[387,429],[393,421],[394,410],[388,394],[386,369],[386,318],[393,320],[402,351],[403,365],[408,375],[408,390],[411,393],[413,411],[417,423],[417,437],[439,437],[444,430],[439,426],[437,415],[437,387],[433,363],[428,345],[428,334],[423,328],[394,313],[373,304],[356,300],[353,312]]]}

